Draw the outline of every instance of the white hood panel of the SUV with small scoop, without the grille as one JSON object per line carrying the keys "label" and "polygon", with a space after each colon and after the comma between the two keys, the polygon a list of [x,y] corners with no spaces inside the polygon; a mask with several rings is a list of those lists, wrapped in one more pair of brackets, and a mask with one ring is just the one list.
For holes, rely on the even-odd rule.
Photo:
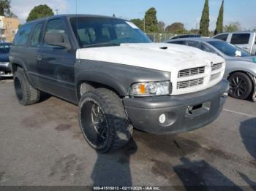
{"label": "white hood panel of the SUV with small scoop, without the grille", "polygon": [[78,59],[119,63],[159,71],[187,69],[224,62],[217,55],[178,44],[121,44],[117,47],[91,47],[77,51]]}

